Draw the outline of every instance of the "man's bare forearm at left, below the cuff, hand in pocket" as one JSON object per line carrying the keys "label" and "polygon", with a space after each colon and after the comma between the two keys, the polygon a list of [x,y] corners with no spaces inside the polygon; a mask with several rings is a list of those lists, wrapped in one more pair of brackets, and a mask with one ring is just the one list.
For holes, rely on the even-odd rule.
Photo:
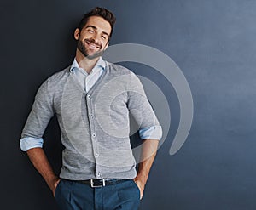
{"label": "man's bare forearm at left, below the cuff, hand in pocket", "polygon": [[55,188],[60,182],[60,179],[55,175],[49,161],[42,148],[32,148],[26,151],[27,156],[31,160],[33,166],[38,170],[38,173],[42,175],[45,182],[48,184],[49,189],[55,196]]}

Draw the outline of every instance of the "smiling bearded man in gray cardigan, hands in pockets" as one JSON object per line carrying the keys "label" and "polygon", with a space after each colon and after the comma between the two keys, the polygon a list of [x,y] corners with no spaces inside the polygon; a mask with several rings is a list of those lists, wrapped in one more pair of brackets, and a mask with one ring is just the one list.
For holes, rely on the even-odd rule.
{"label": "smiling bearded man in gray cardigan, hands in pockets", "polygon": [[[74,31],[78,43],[73,64],[38,89],[21,134],[21,150],[62,210],[137,209],[161,138],[161,127],[136,75],[102,60],[114,23],[107,9],[84,14]],[[138,172],[129,138],[129,113],[143,139]],[[42,149],[44,130],[54,114],[65,147],[60,176]]]}

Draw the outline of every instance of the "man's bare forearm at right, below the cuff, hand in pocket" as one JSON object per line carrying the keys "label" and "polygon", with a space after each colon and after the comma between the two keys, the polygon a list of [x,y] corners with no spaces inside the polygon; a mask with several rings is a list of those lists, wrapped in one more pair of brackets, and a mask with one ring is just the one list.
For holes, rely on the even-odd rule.
{"label": "man's bare forearm at right, below the cuff, hand in pocket", "polygon": [[143,198],[143,191],[148,180],[150,168],[154,162],[158,144],[159,140],[155,139],[145,139],[143,142],[141,162],[139,163],[137,177],[134,179],[140,190],[141,199]]}

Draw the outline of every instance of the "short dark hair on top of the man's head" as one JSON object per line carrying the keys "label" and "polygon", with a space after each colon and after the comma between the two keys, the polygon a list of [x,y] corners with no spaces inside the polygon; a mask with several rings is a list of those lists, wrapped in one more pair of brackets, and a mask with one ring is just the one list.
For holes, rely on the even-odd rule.
{"label": "short dark hair on top of the man's head", "polygon": [[79,30],[82,31],[82,29],[84,28],[88,19],[91,16],[102,17],[104,20],[108,21],[108,23],[111,26],[111,32],[110,32],[110,35],[109,35],[109,37],[111,37],[112,32],[113,32],[113,25],[115,23],[116,18],[115,18],[114,14],[112,12],[110,12],[108,9],[105,9],[105,8],[96,7],[94,9],[91,9],[90,12],[84,14],[83,19],[79,23]]}

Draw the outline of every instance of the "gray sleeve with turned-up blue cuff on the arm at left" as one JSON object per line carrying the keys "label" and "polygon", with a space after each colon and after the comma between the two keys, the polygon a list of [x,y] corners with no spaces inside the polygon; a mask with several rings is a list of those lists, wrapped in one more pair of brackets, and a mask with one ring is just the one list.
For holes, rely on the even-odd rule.
{"label": "gray sleeve with turned-up blue cuff on the arm at left", "polygon": [[32,111],[27,117],[26,124],[21,133],[20,149],[23,151],[43,147],[45,128],[49,120],[54,116],[54,108],[48,88],[48,81],[45,81],[38,89]]}

